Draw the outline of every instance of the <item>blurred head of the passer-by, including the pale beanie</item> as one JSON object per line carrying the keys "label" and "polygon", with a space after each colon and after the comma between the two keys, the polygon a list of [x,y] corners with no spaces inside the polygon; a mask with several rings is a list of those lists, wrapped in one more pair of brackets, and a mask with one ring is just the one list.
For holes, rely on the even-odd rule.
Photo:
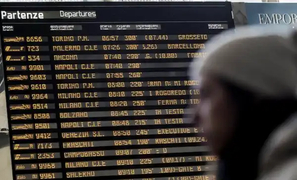
{"label": "blurred head of the passer-by, including the pale beanie", "polygon": [[[203,49],[208,54],[191,65],[199,81],[194,108],[212,150],[220,155],[237,138],[267,136],[297,110],[297,45],[290,31],[249,27],[225,32]],[[239,141],[237,141],[239,142]],[[247,142],[246,142],[247,143]],[[234,144],[233,144],[234,145]]]}

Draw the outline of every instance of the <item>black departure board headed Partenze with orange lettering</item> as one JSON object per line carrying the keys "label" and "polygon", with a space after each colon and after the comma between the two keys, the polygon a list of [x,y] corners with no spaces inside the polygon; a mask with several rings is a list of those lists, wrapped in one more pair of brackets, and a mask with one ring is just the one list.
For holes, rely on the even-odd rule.
{"label": "black departure board headed Partenze with orange lettering", "polygon": [[14,180],[215,180],[187,69],[229,2],[0,5]]}

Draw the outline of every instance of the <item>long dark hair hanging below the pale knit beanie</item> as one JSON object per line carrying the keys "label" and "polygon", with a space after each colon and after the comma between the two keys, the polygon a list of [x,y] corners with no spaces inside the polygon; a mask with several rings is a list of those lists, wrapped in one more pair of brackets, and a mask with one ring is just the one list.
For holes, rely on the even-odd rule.
{"label": "long dark hair hanging below the pale knit beanie", "polygon": [[233,137],[219,154],[218,180],[255,180],[265,141],[297,111],[297,99],[260,99],[256,93],[228,81],[220,83],[236,104],[238,114]]}

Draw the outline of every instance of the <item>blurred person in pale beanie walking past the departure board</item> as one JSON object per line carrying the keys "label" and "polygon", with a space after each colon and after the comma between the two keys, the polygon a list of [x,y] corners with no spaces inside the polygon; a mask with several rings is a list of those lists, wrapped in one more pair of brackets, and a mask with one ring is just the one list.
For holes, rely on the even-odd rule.
{"label": "blurred person in pale beanie walking past the departure board", "polygon": [[205,47],[190,76],[217,180],[297,180],[297,32],[244,27]]}

